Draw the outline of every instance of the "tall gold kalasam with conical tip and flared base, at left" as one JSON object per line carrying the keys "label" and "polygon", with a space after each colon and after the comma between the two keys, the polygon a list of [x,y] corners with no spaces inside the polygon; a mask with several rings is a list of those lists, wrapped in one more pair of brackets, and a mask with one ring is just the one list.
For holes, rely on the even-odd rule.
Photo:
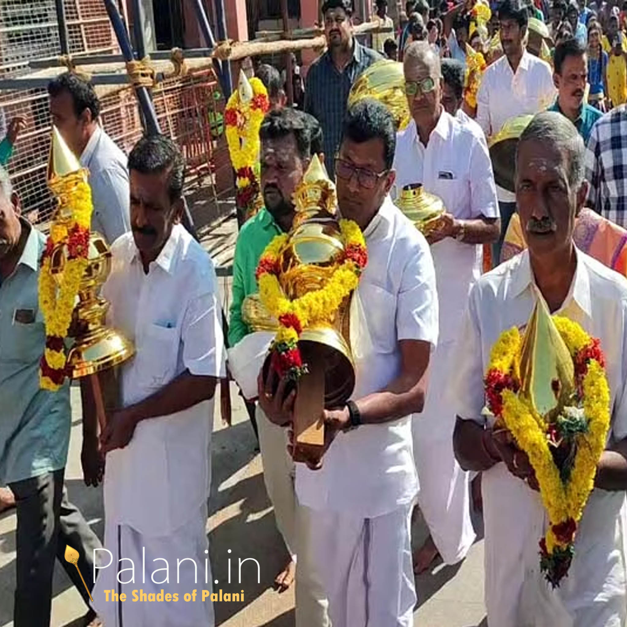
{"label": "tall gold kalasam with conical tip and flared base, at left", "polygon": [[[87,180],[87,170],[80,167],[60,133],[53,127],[48,162],[48,184],[58,201],[51,228],[63,228],[72,221],[72,186]],[[65,243],[53,250],[51,273],[62,276],[68,251]],[[134,354],[134,347],[124,335],[105,325],[108,303],[98,293],[111,270],[111,251],[100,233],[89,239],[88,265],[83,273],[75,308],[80,333],[74,338],[67,357],[68,376],[73,379],[96,374],[117,366]]]}

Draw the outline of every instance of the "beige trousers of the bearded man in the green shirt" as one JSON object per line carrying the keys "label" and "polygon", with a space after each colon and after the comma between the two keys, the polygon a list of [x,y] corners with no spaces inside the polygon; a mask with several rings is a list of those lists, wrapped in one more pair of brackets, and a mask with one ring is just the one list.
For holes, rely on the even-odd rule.
{"label": "beige trousers of the bearded man in the green shirt", "polygon": [[[292,559],[297,546],[307,541],[307,517],[300,516],[300,505],[294,489],[294,461],[287,451],[287,430],[268,420],[257,405],[259,448],[263,462],[263,482],[275,512],[275,520]],[[305,560],[298,561],[296,576],[296,626],[329,627],[324,587]]]}

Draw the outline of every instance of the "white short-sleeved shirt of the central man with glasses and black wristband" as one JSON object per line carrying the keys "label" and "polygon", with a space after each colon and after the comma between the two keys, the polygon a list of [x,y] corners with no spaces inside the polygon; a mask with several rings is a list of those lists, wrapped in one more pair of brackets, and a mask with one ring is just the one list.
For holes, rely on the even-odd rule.
{"label": "white short-sleeved shirt of the central man with glasses and black wristband", "polygon": [[[350,317],[355,400],[384,389],[398,376],[399,340],[423,340],[434,348],[438,340],[435,272],[426,240],[389,198],[364,236],[368,263]],[[365,312],[363,318],[357,308]],[[356,320],[366,329],[356,329]],[[409,416],[340,433],[321,470],[296,465],[298,500],[318,510],[372,518],[411,502],[417,490]]]}

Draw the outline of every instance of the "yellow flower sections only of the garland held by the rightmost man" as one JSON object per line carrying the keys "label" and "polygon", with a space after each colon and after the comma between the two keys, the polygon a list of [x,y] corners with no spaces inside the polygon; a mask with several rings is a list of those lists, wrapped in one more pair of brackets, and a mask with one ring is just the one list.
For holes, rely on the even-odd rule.
{"label": "yellow flower sections only of the garland held by the rightmost man", "polygon": [[[575,322],[554,316],[562,339],[573,357],[591,344],[591,338]],[[514,328],[503,332],[492,348],[488,372],[510,374],[520,381],[520,347],[522,339]],[[582,379],[582,404],[588,421],[587,433],[577,436],[577,446],[571,476],[562,483],[559,468],[554,463],[547,439],[548,424],[537,414],[530,403],[517,396],[511,389],[502,392],[503,406],[500,418],[512,433],[522,451],[527,453],[540,487],[540,496],[551,524],[545,537],[546,549],[551,555],[556,547],[569,545],[554,532],[556,525],[569,520],[579,522],[587,498],[594,487],[596,467],[606,446],[610,424],[609,386],[603,367],[596,359],[590,359]]]}

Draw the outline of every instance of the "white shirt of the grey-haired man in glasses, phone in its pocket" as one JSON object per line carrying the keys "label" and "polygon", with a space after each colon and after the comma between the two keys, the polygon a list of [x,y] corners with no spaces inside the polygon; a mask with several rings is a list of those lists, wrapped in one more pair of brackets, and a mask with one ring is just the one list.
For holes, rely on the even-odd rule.
{"label": "white shirt of the grey-haired man in glasses, phone in its pocket", "polygon": [[[412,120],[399,132],[394,155],[396,196],[422,183],[458,219],[498,218],[497,192],[485,137],[477,125],[442,112],[422,144]],[[446,238],[431,246],[440,297],[440,343],[455,340],[468,290],[482,273],[483,247]]]}

